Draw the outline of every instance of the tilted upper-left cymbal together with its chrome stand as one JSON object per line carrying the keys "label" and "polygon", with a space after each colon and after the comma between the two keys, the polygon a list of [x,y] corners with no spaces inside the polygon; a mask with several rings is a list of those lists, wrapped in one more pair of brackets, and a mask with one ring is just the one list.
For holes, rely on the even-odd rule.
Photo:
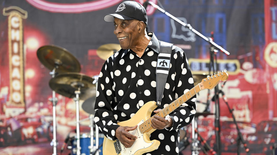
{"label": "tilted upper-left cymbal together with its chrome stand", "polygon": [[[75,71],[81,70],[80,63],[78,60],[70,54],[66,49],[55,45],[46,45],[40,47],[37,51],[37,57],[40,62],[49,70],[52,70],[49,74],[52,78],[58,74],[58,72]],[[53,155],[57,155],[57,138],[56,138],[56,105],[57,98],[56,92],[52,91],[52,98],[49,101],[53,105],[53,139],[50,143],[53,146]]]}

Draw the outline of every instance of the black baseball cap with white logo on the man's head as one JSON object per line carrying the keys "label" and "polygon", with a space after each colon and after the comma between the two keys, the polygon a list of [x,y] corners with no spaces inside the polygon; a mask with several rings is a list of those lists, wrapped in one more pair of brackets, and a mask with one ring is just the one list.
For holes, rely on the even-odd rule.
{"label": "black baseball cap with white logo on the man's head", "polygon": [[139,20],[147,25],[147,14],[145,8],[138,2],[125,1],[121,3],[114,14],[107,14],[104,16],[106,22],[113,22],[114,18],[122,20]]}

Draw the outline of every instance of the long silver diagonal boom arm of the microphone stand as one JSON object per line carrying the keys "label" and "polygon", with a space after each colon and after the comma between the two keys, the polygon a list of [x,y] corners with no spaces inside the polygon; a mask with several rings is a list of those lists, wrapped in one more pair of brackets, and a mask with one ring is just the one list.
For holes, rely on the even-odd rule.
{"label": "long silver diagonal boom arm of the microphone stand", "polygon": [[[147,3],[147,2],[145,2],[145,3]],[[176,22],[178,22],[178,23],[182,24],[183,26],[185,26],[186,28],[189,28],[190,30],[192,30],[192,32],[194,32],[196,35],[200,36],[201,38],[203,38],[204,40],[206,40],[207,42],[212,44],[212,46],[214,46],[216,49],[220,50],[221,52],[225,53],[226,55],[230,55],[230,53],[228,51],[226,51],[221,46],[219,46],[218,44],[213,42],[211,39],[203,36],[203,34],[201,34],[200,32],[196,31],[194,28],[192,28],[192,26],[190,24],[186,24],[186,23],[182,22],[181,20],[179,20],[178,18],[174,17],[170,13],[166,12],[165,10],[163,10],[162,8],[160,8],[158,5],[154,4],[153,2],[148,1],[148,3],[150,5],[152,5],[153,7],[157,8],[158,10],[160,10],[162,13],[164,13],[167,16],[169,16],[170,18],[172,18],[173,20],[175,20]]]}

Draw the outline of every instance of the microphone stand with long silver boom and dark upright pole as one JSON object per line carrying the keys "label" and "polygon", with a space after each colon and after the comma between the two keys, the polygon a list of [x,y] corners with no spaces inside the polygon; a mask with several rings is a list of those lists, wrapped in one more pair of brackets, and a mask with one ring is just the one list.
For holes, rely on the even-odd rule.
{"label": "microphone stand with long silver boom and dark upright pole", "polygon": [[[226,55],[230,55],[230,53],[228,51],[226,51],[225,49],[223,49],[222,47],[220,47],[218,44],[216,44],[215,42],[213,42],[212,39],[207,38],[206,36],[204,36],[203,34],[201,34],[200,32],[196,31],[194,28],[192,28],[192,26],[190,24],[186,24],[184,22],[182,22],[181,20],[179,20],[178,18],[174,17],[173,15],[171,15],[170,13],[166,12],[164,9],[160,8],[158,5],[154,4],[151,1],[145,2],[145,3],[149,3],[150,5],[152,5],[154,8],[158,9],[159,11],[161,11],[162,13],[166,14],[167,16],[169,16],[171,19],[175,20],[176,22],[180,23],[181,25],[185,26],[186,28],[189,28],[192,32],[194,32],[197,36],[201,37],[202,39],[204,39],[206,42],[208,42],[211,45],[210,50],[213,50],[213,52],[218,52],[221,51],[222,53],[226,54]],[[215,88],[215,91],[217,91],[217,87]],[[219,126],[219,106],[216,104],[216,146],[217,146],[217,153],[218,155],[221,155],[221,143],[220,143],[220,126]]]}

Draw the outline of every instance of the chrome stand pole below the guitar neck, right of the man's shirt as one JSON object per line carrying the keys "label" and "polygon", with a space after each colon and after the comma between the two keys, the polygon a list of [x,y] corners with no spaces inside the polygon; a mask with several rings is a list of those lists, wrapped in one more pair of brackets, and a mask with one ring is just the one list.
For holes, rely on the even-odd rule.
{"label": "chrome stand pole below the guitar neck, right of the man's shirt", "polygon": [[197,139],[197,133],[195,133],[195,130],[197,130],[197,117],[193,117],[191,121],[192,125],[192,131],[191,131],[191,139],[192,139],[192,144],[191,144],[191,154],[192,155],[198,155],[200,148],[198,147],[199,141]]}

